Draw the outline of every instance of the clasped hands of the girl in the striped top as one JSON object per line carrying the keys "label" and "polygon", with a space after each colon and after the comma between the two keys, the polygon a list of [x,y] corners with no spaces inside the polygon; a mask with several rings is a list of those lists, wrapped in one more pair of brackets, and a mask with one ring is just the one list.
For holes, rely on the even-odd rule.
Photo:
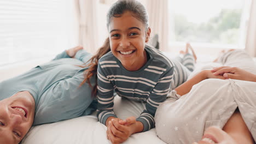
{"label": "clasped hands of the girl in the striped top", "polygon": [[135,117],[129,117],[124,121],[113,118],[108,123],[107,137],[112,143],[122,143],[134,133],[135,125]]}

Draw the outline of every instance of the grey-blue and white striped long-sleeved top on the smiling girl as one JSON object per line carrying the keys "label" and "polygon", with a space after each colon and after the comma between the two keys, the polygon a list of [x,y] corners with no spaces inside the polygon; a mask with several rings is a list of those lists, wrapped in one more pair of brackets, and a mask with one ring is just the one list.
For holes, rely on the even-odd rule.
{"label": "grey-blue and white striped long-sleeved top on the smiling girl", "polygon": [[148,62],[137,71],[126,70],[112,52],[106,53],[97,70],[97,117],[105,124],[108,117],[117,117],[113,111],[114,91],[130,100],[146,102],[146,109],[136,119],[143,123],[143,131],[155,127],[157,107],[165,101],[172,85],[173,63],[160,51],[145,47]]}

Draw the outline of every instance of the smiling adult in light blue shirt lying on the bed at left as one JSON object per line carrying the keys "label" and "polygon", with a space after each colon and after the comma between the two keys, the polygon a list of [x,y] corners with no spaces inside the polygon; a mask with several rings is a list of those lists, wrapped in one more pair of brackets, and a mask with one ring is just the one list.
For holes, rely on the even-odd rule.
{"label": "smiling adult in light blue shirt lying on the bed at left", "polygon": [[[31,125],[89,115],[96,109],[84,70],[91,54],[75,47],[0,83],[0,143],[19,143]],[[73,58],[71,58],[73,57]],[[95,77],[90,79],[95,84]],[[93,102],[93,103],[92,103]]]}

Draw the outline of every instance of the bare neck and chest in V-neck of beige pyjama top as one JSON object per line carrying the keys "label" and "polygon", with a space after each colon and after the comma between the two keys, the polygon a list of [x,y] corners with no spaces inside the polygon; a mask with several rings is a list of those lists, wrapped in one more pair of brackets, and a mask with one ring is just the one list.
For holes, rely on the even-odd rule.
{"label": "bare neck and chest in V-neck of beige pyjama top", "polygon": [[223,130],[238,141],[238,143],[254,143],[251,132],[247,128],[245,121],[243,121],[238,109],[233,113],[228,122],[226,122]]}

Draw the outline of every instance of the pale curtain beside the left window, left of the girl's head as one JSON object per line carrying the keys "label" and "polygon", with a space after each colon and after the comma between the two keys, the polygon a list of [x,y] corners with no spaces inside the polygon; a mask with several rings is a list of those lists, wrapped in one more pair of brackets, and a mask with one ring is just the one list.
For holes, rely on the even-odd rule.
{"label": "pale curtain beside the left window, left of the girl's head", "polygon": [[97,1],[79,0],[79,44],[88,52],[95,52],[97,45]]}

